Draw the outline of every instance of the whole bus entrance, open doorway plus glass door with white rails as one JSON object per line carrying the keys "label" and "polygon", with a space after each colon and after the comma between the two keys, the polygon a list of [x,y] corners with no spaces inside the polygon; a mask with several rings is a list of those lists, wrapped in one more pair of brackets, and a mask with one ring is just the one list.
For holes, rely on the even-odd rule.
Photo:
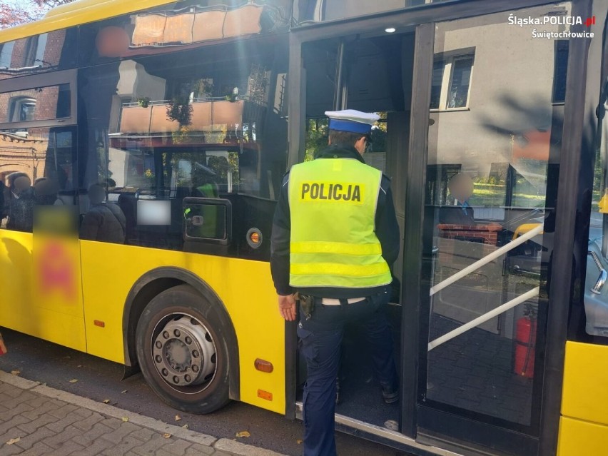
{"label": "whole bus entrance, open doorway plus glass door with white rails", "polygon": [[[416,454],[548,455],[557,440],[556,421],[541,420],[559,402],[544,372],[547,279],[562,143],[579,139],[564,100],[580,44],[535,39],[510,17],[583,16],[588,5],[527,4],[441,5],[434,23],[411,11],[292,34],[290,93],[302,97],[290,101],[290,161],[323,146],[324,111],[380,113],[382,140],[364,158],[392,179],[403,241],[388,310],[401,406],[380,403],[365,347],[349,348],[355,333],[336,422]],[[459,174],[472,183],[465,207],[449,188]]]}

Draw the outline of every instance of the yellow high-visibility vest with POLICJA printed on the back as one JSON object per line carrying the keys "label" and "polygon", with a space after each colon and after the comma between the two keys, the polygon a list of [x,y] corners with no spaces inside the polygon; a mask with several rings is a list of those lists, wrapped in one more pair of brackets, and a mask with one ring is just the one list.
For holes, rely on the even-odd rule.
{"label": "yellow high-visibility vest with POLICJA printed on the back", "polygon": [[291,168],[289,284],[373,288],[392,278],[375,235],[382,173],[350,158]]}

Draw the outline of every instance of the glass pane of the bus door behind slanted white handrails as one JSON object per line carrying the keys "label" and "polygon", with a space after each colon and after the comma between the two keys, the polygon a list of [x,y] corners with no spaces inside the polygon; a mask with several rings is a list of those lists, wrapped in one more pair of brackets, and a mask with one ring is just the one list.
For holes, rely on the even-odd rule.
{"label": "glass pane of the bus door behind slanted white handrails", "polygon": [[[570,14],[569,4],[517,11]],[[557,196],[567,46],[508,14],[437,25],[427,169],[430,327],[425,398],[534,425]],[[547,26],[547,30],[557,26]],[[509,46],[504,46],[508,42]],[[512,49],[526,49],[525,54]],[[497,51],[500,50],[500,51]],[[453,111],[452,111],[453,110]],[[507,253],[496,250],[510,245]],[[467,268],[467,271],[462,272]],[[492,311],[510,303],[502,312]],[[447,340],[440,337],[472,320]],[[454,408],[455,407],[455,408]]]}

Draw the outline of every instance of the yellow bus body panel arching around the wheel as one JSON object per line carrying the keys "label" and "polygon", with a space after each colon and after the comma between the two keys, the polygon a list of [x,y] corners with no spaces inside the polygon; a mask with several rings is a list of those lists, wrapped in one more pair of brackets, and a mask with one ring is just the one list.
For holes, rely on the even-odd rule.
{"label": "yellow bus body panel arching around the wheel", "polygon": [[[285,412],[285,322],[277,310],[267,262],[81,240],[88,353],[124,363],[123,309],[131,287],[148,271],[172,267],[198,275],[228,310],[238,339],[240,400]],[[95,325],[101,320],[104,327]],[[272,373],[255,369],[270,361]],[[258,397],[270,392],[272,400]]]}

